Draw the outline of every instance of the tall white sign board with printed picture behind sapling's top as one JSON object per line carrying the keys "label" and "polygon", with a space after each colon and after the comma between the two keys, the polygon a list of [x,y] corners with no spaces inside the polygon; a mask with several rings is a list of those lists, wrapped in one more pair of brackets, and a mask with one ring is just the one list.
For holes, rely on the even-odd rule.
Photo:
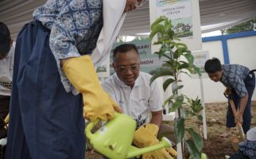
{"label": "tall white sign board with printed picture behind sapling's top", "polygon": [[[149,0],[150,23],[157,17],[165,16],[172,20],[173,29],[180,41],[189,50],[201,50],[200,8],[198,0]],[[157,41],[157,36],[153,41]],[[159,50],[153,45],[152,52]]]}

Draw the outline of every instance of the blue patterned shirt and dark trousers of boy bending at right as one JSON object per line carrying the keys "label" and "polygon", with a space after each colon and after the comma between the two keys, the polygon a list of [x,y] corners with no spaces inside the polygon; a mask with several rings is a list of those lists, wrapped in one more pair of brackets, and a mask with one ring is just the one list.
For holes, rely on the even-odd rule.
{"label": "blue patterned shirt and dark trousers of boy bending at right", "polygon": [[[236,109],[239,107],[240,99],[245,95],[248,95],[248,101],[246,108],[242,115],[242,129],[244,133],[250,130],[251,122],[251,97],[254,94],[255,88],[255,75],[254,72],[250,72],[249,68],[240,64],[223,64],[223,76],[220,80],[225,87],[230,87],[233,90],[231,95]],[[235,127],[235,117],[231,109],[231,103],[228,103],[227,108],[227,127]]]}

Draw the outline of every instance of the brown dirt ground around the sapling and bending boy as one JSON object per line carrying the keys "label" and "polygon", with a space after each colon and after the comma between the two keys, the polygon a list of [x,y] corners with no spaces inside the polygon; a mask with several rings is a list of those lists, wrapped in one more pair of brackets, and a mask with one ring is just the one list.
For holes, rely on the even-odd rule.
{"label": "brown dirt ground around the sapling and bending boy", "polygon": [[[232,128],[232,134],[227,138],[220,137],[225,129],[226,123],[226,111],[227,103],[210,103],[206,104],[206,118],[208,126],[208,139],[204,139],[204,149],[203,152],[208,155],[210,159],[223,159],[225,155],[231,155],[235,153],[231,141],[234,138],[239,137],[239,130]],[[252,120],[251,127],[256,126],[256,101],[252,103],[251,106]],[[173,122],[169,122],[170,125]],[[186,121],[186,125],[195,126],[195,119],[192,118]],[[185,151],[186,153],[186,151]],[[90,150],[86,152],[86,159],[101,159],[102,157],[95,150]],[[188,158],[188,154],[184,155],[184,158]]]}

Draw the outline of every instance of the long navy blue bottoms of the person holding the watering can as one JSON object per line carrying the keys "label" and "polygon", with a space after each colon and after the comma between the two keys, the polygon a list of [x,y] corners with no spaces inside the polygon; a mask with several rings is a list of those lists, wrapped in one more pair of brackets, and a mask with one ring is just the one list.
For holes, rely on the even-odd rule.
{"label": "long navy blue bottoms of the person holding the watering can", "polygon": [[84,159],[83,101],[60,82],[39,21],[17,37],[6,159]]}

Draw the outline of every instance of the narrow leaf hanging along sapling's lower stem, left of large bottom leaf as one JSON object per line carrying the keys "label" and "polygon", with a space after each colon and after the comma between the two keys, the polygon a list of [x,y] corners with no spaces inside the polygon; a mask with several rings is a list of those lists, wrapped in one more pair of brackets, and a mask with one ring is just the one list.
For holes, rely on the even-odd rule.
{"label": "narrow leaf hanging along sapling's lower stem, left of large bottom leaf", "polygon": [[178,118],[174,122],[174,133],[176,138],[176,143],[180,143],[184,138],[184,118]]}

